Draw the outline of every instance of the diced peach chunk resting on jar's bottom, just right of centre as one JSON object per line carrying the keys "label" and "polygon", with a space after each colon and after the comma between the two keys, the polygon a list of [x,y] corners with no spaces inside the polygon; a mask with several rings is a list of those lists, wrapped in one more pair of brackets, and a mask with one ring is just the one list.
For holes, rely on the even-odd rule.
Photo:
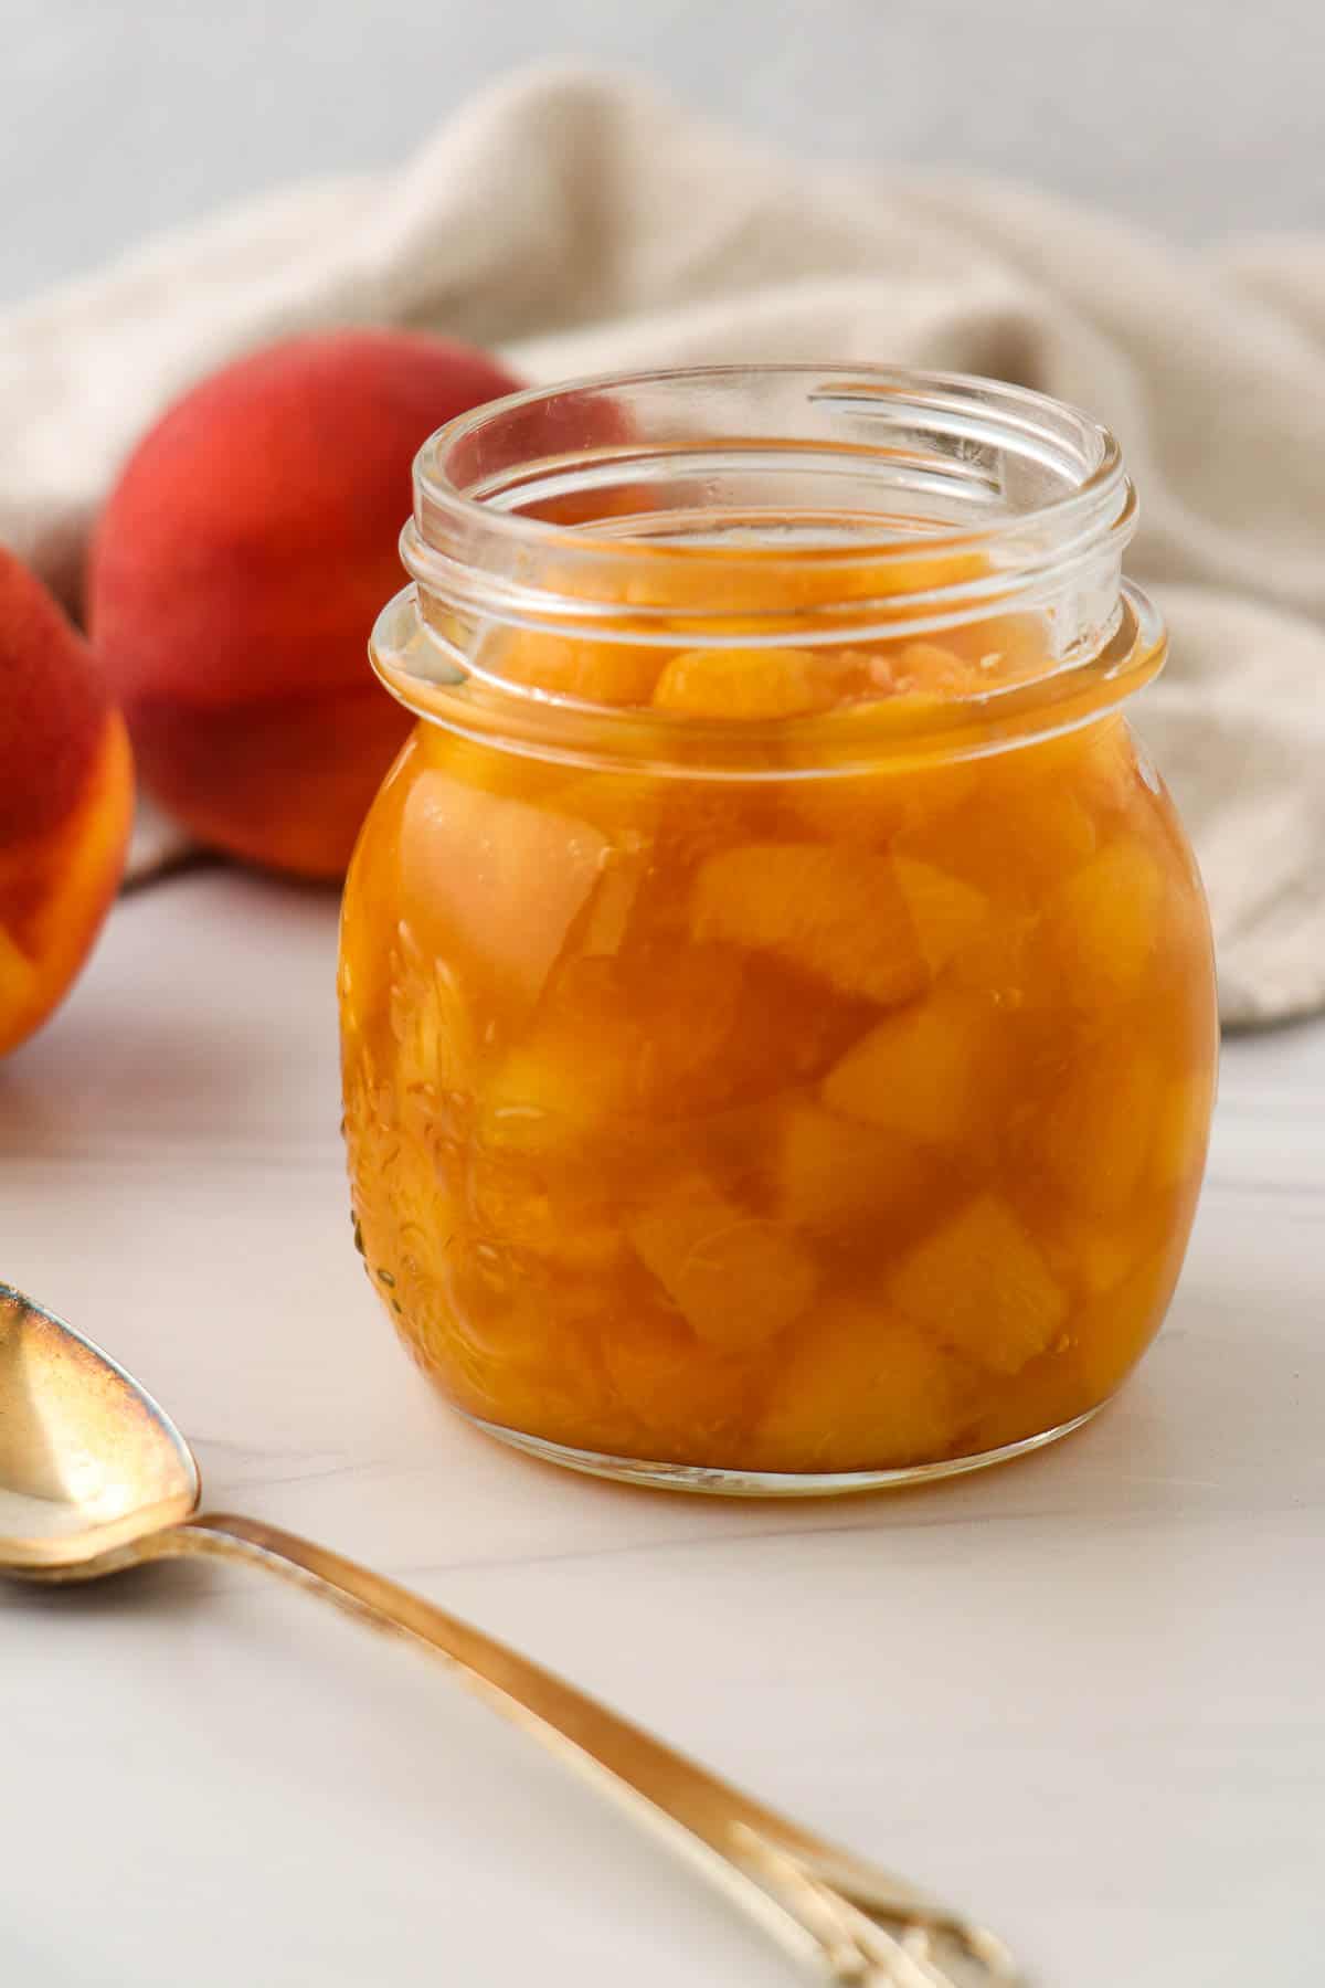
{"label": "diced peach chunk resting on jar's bottom, just right of centre", "polygon": [[862,1471],[942,1457],[965,1415],[959,1362],[868,1298],[814,1306],[779,1360],[753,1457],[775,1471]]}

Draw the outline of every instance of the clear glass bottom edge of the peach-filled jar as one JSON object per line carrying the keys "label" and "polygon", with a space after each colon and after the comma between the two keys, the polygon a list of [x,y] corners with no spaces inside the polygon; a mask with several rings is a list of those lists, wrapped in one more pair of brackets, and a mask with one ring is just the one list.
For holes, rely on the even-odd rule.
{"label": "clear glass bottom edge of the peach-filled jar", "polygon": [[1085,1427],[1099,1415],[1104,1402],[1097,1402],[1083,1415],[1061,1421],[1055,1429],[1041,1429],[1039,1435],[1023,1435],[1017,1443],[1003,1443],[999,1449],[981,1449],[971,1457],[946,1457],[942,1463],[908,1463],[888,1471],[741,1471],[709,1467],[699,1463],[648,1463],[642,1457],[610,1457],[596,1449],[570,1449],[566,1443],[546,1441],[542,1435],[524,1435],[520,1429],[505,1429],[499,1421],[483,1421],[465,1409],[457,1409],[485,1435],[495,1435],[499,1443],[520,1449],[540,1463],[560,1463],[562,1469],[580,1471],[584,1477],[610,1477],[616,1483],[648,1485],[654,1491],[689,1491],[697,1497],[850,1497],[858,1491],[898,1491],[906,1485],[934,1483],[940,1477],[961,1477],[965,1471],[987,1471],[995,1463],[1011,1463],[1027,1457],[1033,1449],[1057,1443],[1063,1435]]}

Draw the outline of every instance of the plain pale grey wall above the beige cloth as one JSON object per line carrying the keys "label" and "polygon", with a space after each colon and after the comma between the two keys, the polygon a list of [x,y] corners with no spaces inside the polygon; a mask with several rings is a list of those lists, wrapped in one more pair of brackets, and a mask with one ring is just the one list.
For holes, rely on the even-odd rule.
{"label": "plain pale grey wall above the beige cloth", "polygon": [[987,167],[1170,235],[1325,227],[1319,0],[0,0],[0,300],[586,56],[807,157]]}

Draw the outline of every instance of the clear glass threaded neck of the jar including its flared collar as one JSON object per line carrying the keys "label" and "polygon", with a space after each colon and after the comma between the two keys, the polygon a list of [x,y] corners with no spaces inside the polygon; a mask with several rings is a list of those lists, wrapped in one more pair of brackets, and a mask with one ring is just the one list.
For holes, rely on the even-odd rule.
{"label": "clear glass threaded neck of the jar including its flared collar", "polygon": [[1154,616],[1120,582],[1134,523],[1112,435],[1021,388],[886,368],[604,378],[511,396],[425,443],[401,537],[415,584],[373,658],[425,716],[451,724],[459,700],[473,724],[487,698],[499,726],[538,736],[526,749],[560,724],[572,751],[596,714],[630,755],[640,728],[662,749],[660,714],[511,682],[493,634],[860,648],[1037,616],[1033,682],[928,714],[952,751],[965,730],[1083,722],[1154,674]]}

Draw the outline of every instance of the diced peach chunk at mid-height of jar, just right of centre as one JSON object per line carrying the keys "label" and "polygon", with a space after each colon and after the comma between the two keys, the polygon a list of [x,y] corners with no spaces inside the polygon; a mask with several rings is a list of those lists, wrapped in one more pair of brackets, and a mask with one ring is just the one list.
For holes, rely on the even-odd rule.
{"label": "diced peach chunk at mid-height of jar, just right of centre", "polygon": [[936,990],[862,1036],[824,1077],[822,1101],[842,1117],[920,1145],[973,1141],[991,1022],[979,996]]}

